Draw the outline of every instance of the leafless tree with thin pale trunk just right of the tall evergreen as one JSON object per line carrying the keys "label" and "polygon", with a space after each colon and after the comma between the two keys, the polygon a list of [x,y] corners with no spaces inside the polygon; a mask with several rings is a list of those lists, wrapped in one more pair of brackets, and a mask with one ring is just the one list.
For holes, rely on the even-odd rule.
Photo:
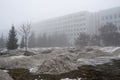
{"label": "leafless tree with thin pale trunk just right of the tall evergreen", "polygon": [[20,27],[20,34],[24,36],[24,42],[25,42],[25,51],[27,51],[28,48],[28,39],[31,32],[31,23],[23,24]]}

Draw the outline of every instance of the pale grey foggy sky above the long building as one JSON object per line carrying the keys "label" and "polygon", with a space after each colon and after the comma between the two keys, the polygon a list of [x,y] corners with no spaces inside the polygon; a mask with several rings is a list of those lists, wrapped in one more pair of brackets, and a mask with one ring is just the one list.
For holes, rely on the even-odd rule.
{"label": "pale grey foggy sky above the long building", "polygon": [[119,7],[120,0],[0,0],[0,30],[80,11]]}

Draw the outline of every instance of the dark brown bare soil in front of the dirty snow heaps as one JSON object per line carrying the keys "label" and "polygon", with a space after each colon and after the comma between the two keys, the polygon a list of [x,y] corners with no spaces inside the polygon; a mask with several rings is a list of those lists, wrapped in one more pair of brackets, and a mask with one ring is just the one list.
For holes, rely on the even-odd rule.
{"label": "dark brown bare soil in front of the dirty snow heaps", "polygon": [[78,70],[62,74],[32,74],[27,69],[9,69],[9,74],[14,80],[60,80],[62,78],[81,80],[120,80],[120,60],[112,63],[91,66],[83,65]]}

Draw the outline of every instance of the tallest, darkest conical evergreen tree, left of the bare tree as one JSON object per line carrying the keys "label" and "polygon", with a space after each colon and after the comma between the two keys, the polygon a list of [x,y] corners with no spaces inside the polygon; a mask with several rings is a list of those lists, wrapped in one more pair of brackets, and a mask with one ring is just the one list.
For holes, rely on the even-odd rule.
{"label": "tallest, darkest conical evergreen tree, left of the bare tree", "polygon": [[11,30],[9,31],[7,49],[13,50],[13,49],[18,48],[18,44],[17,44],[18,39],[17,39],[16,35],[17,35],[17,33],[15,31],[15,28],[14,28],[14,26],[12,26]]}

